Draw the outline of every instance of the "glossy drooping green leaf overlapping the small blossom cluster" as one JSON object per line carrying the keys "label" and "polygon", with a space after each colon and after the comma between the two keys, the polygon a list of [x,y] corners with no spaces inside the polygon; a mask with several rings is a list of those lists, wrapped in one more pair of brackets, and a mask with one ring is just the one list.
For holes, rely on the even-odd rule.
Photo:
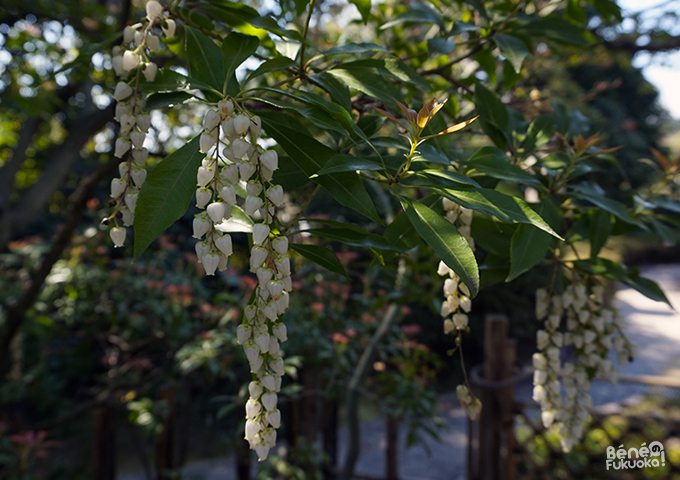
{"label": "glossy drooping green leaf overlapping the small blossom cluster", "polygon": [[479,291],[479,269],[465,237],[451,222],[426,205],[405,197],[400,197],[400,200],[406,215],[423,240],[458,274],[470,289],[470,296],[476,296]]}

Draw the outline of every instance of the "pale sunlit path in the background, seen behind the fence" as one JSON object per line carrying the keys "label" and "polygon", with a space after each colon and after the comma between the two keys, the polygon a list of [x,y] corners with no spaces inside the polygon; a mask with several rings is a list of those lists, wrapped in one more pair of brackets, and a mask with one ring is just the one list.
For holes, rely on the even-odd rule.
{"label": "pale sunlit path in the background, seen behind the fence", "polygon": [[[654,266],[643,269],[642,274],[659,282],[668,299],[680,311],[680,265]],[[620,373],[680,375],[680,313],[626,287],[617,292],[616,299],[622,315],[627,319],[626,333],[637,348],[635,361],[620,366]],[[531,389],[531,381],[528,380],[518,386],[517,396],[528,399],[531,397]],[[593,404],[601,406],[612,402],[632,403],[648,393],[649,389],[650,387],[642,385],[595,382],[592,389]],[[674,394],[677,395],[677,391]],[[440,430],[440,443],[426,439],[430,455],[421,445],[407,449],[405,432],[400,432],[400,479],[458,480],[465,477],[466,419],[453,395],[443,395],[440,398],[439,417],[446,427]],[[345,429],[339,435],[339,459],[342,461],[347,437]],[[361,435],[357,473],[384,476],[384,420],[378,418],[362,422]],[[234,459],[231,457],[204,460],[188,465],[185,478],[232,480],[234,471]],[[118,480],[143,480],[143,476],[121,475]]]}

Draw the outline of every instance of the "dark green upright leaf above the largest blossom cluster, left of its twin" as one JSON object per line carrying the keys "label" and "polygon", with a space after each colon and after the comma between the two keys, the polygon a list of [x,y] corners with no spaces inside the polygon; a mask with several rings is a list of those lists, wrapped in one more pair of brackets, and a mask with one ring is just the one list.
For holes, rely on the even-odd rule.
{"label": "dark green upright leaf above the largest blossom cluster, left of its twin", "polygon": [[210,85],[216,91],[222,92],[225,77],[220,47],[210,37],[195,28],[185,25],[184,31],[187,39],[190,75]]}

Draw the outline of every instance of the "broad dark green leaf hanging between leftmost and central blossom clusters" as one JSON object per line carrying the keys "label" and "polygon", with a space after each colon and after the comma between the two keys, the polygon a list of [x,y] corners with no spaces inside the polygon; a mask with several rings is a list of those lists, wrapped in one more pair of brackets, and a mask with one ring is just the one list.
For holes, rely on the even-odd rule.
{"label": "broad dark green leaf hanging between leftmost and central blossom clusters", "polygon": [[135,209],[134,260],[189,208],[196,190],[196,171],[205,157],[195,137],[159,163],[139,192]]}

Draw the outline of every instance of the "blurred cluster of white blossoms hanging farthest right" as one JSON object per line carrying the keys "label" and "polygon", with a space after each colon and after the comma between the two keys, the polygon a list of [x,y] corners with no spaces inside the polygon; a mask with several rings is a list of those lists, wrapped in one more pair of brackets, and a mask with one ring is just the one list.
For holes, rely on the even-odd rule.
{"label": "blurred cluster of white blossoms hanging farthest right", "polygon": [[[539,352],[533,355],[533,398],[541,405],[543,426],[557,423],[562,449],[567,452],[583,437],[592,406],[591,380],[597,377],[617,381],[618,372],[609,351],[614,348],[619,363],[633,356],[633,345],[622,331],[623,318],[616,309],[603,304],[604,287],[587,285],[587,280],[579,280],[562,295],[550,296],[545,289],[536,292],[536,317],[545,322],[536,335]],[[565,332],[560,328],[563,318]],[[571,347],[573,352],[572,361],[564,364],[563,347]]]}

